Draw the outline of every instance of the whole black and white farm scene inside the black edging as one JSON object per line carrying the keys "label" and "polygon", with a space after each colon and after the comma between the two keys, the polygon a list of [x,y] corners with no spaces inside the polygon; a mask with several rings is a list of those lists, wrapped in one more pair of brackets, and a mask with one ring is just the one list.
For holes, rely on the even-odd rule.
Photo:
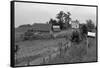
{"label": "whole black and white farm scene inside the black edging", "polygon": [[14,5],[14,66],[97,62],[97,6]]}

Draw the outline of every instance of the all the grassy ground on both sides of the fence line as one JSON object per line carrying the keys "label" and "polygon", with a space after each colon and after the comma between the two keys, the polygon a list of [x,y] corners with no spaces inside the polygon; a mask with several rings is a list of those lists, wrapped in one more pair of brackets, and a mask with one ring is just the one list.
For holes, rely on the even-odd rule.
{"label": "all the grassy ground on both sides of the fence line", "polygon": [[[62,31],[55,36],[67,34],[70,36],[71,31]],[[65,44],[67,42],[66,38],[55,38],[55,39],[42,39],[42,40],[27,40],[16,42],[15,45],[19,46],[19,50],[16,53],[15,60],[16,66],[25,66],[25,65],[41,65],[41,64],[57,64],[57,63],[74,63],[74,62],[90,62],[96,61],[96,38],[88,38],[89,45],[87,54],[84,54],[84,49],[79,47],[86,46],[85,40],[80,44],[71,44],[63,57],[56,55],[55,50],[59,47],[59,42]],[[78,46],[78,49],[74,46]],[[86,48],[87,49],[87,48]],[[81,58],[78,57],[82,53]],[[51,55],[52,54],[52,55]],[[48,62],[44,62],[43,58],[48,56],[53,56]]]}

